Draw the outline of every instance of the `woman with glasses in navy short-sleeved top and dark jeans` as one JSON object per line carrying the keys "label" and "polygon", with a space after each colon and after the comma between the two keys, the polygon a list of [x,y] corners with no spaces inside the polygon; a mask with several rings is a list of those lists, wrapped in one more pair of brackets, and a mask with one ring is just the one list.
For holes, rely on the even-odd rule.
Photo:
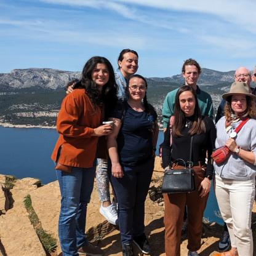
{"label": "woman with glasses in navy short-sleeved top and dark jeans", "polygon": [[122,255],[134,255],[132,242],[144,254],[150,246],[144,233],[145,199],[154,169],[158,140],[157,114],[146,100],[146,80],[130,76],[129,98],[119,102],[110,115],[113,133],[108,136],[111,183],[118,199]]}

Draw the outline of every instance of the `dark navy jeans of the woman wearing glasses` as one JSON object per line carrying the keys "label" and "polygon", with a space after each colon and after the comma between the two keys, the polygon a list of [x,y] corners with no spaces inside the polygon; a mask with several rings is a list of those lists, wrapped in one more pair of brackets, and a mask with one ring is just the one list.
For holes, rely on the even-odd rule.
{"label": "dark navy jeans of the woman wearing glasses", "polygon": [[122,244],[132,244],[134,236],[144,233],[145,200],[153,169],[154,158],[151,158],[138,166],[122,166],[124,171],[122,178],[115,178],[111,175],[111,184],[118,199]]}

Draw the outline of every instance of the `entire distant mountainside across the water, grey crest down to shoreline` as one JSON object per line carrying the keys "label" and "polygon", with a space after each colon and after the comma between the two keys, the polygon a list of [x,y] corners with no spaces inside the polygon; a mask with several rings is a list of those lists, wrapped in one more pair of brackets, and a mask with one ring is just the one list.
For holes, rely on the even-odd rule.
{"label": "entire distant mountainside across the water, grey crest down to shoreline", "polygon": [[[217,113],[222,94],[230,90],[234,72],[202,68],[198,85],[212,97]],[[55,126],[57,114],[65,97],[66,82],[81,78],[81,72],[28,68],[0,73],[0,125]],[[162,124],[162,105],[166,95],[184,84],[182,74],[167,78],[146,78],[147,98]],[[252,85],[254,87],[254,85]]]}

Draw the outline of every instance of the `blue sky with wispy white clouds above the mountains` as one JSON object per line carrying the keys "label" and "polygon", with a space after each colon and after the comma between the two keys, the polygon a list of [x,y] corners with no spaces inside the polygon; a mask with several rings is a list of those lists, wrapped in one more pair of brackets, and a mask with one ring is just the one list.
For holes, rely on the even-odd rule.
{"label": "blue sky with wispy white clouds above the mountains", "polygon": [[138,74],[180,74],[183,61],[236,70],[256,65],[255,0],[0,0],[0,73],[81,71],[102,55],[117,68],[136,50]]}

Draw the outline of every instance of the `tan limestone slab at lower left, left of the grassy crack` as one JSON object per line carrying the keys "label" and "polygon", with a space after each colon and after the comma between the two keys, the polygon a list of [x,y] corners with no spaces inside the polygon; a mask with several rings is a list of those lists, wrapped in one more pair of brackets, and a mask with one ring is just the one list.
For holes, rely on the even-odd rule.
{"label": "tan limestone slab at lower left, left of the grassy crack", "polygon": [[34,178],[23,178],[15,182],[11,190],[14,207],[0,216],[1,242],[8,256],[46,256],[23,204],[24,197],[37,186]]}

